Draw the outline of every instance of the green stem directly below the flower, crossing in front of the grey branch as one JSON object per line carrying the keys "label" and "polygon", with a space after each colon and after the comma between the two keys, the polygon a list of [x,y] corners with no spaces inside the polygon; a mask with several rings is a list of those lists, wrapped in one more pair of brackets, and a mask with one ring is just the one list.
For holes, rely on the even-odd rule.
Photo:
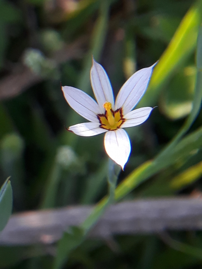
{"label": "green stem directly below the flower, crossing in front of the grey branch", "polygon": [[115,189],[117,184],[118,175],[121,171],[119,165],[117,165],[114,161],[109,158],[109,166],[108,166],[108,187],[109,187],[109,195],[101,200],[99,204],[94,208],[91,214],[85,219],[85,221],[81,224],[81,228],[84,230],[84,233],[87,232],[96,224],[98,219],[103,215],[106,208],[113,204],[115,201]]}

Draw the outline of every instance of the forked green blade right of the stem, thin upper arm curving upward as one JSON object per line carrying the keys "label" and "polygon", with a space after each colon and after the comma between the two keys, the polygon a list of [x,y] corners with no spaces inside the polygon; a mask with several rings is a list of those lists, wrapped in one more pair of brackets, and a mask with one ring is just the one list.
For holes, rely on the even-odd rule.
{"label": "forked green blade right of the stem, thin upper arm curving upward", "polygon": [[[116,197],[124,197],[128,192],[139,185],[141,182],[151,177],[156,172],[160,171],[162,168],[168,167],[170,164],[177,161],[177,159],[182,157],[184,154],[188,156],[191,151],[198,150],[201,146],[201,135],[198,136],[196,133],[200,133],[196,131],[189,136],[186,136],[183,140],[179,142],[182,136],[188,131],[193,121],[197,117],[200,109],[201,109],[201,99],[202,99],[202,72],[200,69],[200,65],[202,63],[202,55],[200,54],[202,50],[202,27],[199,30],[198,37],[198,46],[197,46],[197,80],[195,85],[195,93],[194,93],[194,101],[192,104],[192,111],[188,116],[187,121],[181,128],[181,130],[177,133],[175,138],[170,142],[170,144],[162,150],[162,152],[157,155],[154,161],[148,161],[141,165],[139,168],[134,170],[124,181],[117,187]],[[195,138],[196,135],[196,138]],[[199,144],[195,144],[195,143]],[[190,148],[191,147],[191,148]]]}

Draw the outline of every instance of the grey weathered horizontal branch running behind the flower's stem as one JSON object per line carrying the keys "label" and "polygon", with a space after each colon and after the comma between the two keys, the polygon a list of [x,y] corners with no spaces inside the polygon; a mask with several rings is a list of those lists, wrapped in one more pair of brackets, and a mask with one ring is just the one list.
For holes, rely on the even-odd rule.
{"label": "grey weathered horizontal branch running behind the flower's stem", "polygon": [[[14,214],[0,233],[1,245],[52,244],[70,225],[79,225],[92,206]],[[89,236],[158,233],[165,230],[202,230],[202,199],[166,198],[121,202],[109,207]]]}

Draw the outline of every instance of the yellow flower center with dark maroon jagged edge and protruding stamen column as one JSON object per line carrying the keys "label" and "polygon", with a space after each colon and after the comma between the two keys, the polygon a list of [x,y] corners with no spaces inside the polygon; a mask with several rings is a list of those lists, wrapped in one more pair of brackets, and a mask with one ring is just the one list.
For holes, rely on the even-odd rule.
{"label": "yellow flower center with dark maroon jagged edge and protruding stamen column", "polygon": [[122,114],[122,108],[113,111],[110,102],[104,103],[103,107],[105,109],[105,114],[97,115],[100,121],[100,128],[107,129],[109,131],[120,128],[125,121]]}

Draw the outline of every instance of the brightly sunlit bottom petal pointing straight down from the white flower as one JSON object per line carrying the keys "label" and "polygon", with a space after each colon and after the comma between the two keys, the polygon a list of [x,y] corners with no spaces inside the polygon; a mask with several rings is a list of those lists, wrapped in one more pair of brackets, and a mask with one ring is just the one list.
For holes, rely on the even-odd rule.
{"label": "brightly sunlit bottom petal pointing straight down from the white flower", "polygon": [[104,147],[109,157],[124,170],[131,151],[130,139],[126,131],[117,129],[107,132],[104,136]]}

